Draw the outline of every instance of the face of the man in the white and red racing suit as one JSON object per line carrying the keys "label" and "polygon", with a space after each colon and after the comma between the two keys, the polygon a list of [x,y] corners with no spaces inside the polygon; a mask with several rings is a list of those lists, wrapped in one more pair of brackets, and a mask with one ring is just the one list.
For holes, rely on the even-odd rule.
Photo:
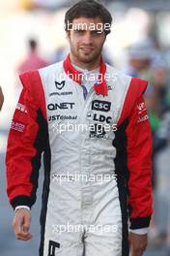
{"label": "face of the man in the white and red racing suit", "polygon": [[104,25],[99,17],[79,17],[73,19],[68,39],[71,54],[81,63],[95,62],[101,53],[105,32]]}

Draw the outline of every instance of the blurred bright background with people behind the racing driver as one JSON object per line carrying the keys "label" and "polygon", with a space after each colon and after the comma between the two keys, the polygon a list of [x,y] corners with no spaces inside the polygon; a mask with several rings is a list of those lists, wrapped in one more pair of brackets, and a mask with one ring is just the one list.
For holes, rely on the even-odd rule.
{"label": "blurred bright background with people behind the racing driver", "polygon": [[[170,1],[100,1],[113,16],[104,59],[130,76],[149,80],[145,93],[153,131],[155,214],[145,256],[170,256]],[[38,255],[40,205],[33,208],[32,234],[17,241],[14,212],[6,196],[5,151],[8,130],[21,90],[18,74],[62,60],[69,51],[64,15],[75,1],[0,0],[0,84],[5,102],[0,112],[0,255]]]}

